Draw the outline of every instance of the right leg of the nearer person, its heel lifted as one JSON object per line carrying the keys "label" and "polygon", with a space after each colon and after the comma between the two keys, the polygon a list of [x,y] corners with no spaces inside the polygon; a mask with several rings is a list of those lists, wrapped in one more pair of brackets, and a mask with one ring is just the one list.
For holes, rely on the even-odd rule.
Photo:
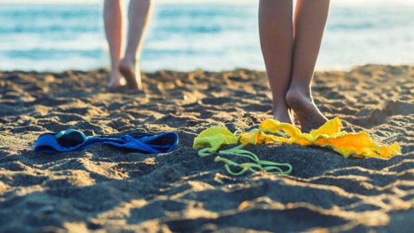
{"label": "right leg of the nearer person, its heel lifted", "polygon": [[297,0],[296,4],[292,79],[286,103],[306,130],[319,128],[327,120],[313,102],[311,83],[328,8],[329,0]]}

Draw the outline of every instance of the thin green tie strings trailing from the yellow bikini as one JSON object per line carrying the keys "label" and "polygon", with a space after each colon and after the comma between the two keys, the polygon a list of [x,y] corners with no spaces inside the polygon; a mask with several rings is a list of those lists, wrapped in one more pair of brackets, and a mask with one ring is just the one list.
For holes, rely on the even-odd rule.
{"label": "thin green tie strings trailing from the yellow bikini", "polygon": [[[226,159],[221,156],[216,156],[214,161],[225,163],[224,168],[228,173],[232,174],[233,176],[242,175],[247,171],[267,172],[270,174],[290,174],[290,172],[292,172],[292,165],[290,165],[289,163],[275,163],[273,161],[260,160],[256,154],[248,150],[243,150],[242,148],[244,148],[243,144],[237,145],[235,148],[231,148],[229,150],[221,150],[219,151],[219,154],[242,156],[244,158],[249,159],[252,162],[236,163],[234,161],[231,161],[230,159]],[[199,150],[199,156],[208,156],[212,152],[214,152],[212,151],[212,148],[204,148]],[[237,167],[242,170],[240,170],[239,172],[233,172],[233,170],[230,169],[230,166]],[[284,167],[287,168],[287,170],[283,170],[282,168]]]}

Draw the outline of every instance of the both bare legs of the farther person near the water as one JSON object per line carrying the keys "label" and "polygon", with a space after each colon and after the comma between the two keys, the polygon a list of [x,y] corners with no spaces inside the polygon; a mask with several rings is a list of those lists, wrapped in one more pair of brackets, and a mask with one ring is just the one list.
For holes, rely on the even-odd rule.
{"label": "both bare legs of the farther person near the water", "polygon": [[125,52],[122,50],[124,45],[123,4],[122,0],[105,0],[103,3],[103,23],[111,62],[109,85],[115,87],[126,84],[128,88],[141,89],[139,59],[152,10],[152,0],[130,1]]}

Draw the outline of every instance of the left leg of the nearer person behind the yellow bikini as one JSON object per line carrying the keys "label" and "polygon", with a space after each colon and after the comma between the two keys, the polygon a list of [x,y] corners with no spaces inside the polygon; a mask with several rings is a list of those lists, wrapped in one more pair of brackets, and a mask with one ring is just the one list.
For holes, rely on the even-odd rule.
{"label": "left leg of the nearer person behind the yellow bikini", "polygon": [[259,34],[266,72],[273,95],[273,117],[292,123],[286,92],[290,84],[293,50],[292,1],[261,0]]}

